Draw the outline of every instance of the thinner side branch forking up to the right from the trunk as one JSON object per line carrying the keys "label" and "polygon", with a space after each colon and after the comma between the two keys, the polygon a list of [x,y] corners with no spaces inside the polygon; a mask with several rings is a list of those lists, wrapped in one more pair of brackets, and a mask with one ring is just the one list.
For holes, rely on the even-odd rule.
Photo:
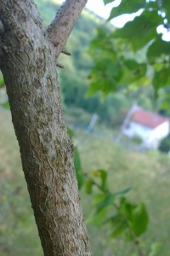
{"label": "thinner side branch forking up to the right from the trunk", "polygon": [[56,47],[57,58],[88,0],[66,0],[48,26],[48,38]]}

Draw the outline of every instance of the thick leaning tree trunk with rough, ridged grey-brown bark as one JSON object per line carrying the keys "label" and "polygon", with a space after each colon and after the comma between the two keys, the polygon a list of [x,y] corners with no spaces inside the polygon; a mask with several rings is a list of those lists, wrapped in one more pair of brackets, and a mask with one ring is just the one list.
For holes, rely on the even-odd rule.
{"label": "thick leaning tree trunk with rough, ridged grey-brown bark", "polygon": [[44,255],[92,255],[61,109],[54,45],[33,0],[1,0],[0,20],[0,68]]}

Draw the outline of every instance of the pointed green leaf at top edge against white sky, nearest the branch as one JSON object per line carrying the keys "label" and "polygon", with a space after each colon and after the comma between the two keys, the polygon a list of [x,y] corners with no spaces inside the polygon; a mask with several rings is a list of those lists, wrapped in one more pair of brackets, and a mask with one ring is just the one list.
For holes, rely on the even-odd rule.
{"label": "pointed green leaf at top edge against white sky, nearest the branch", "polygon": [[144,5],[144,0],[122,0],[119,6],[111,9],[111,15],[109,16],[108,20],[111,20],[119,15],[135,13],[139,11],[139,9],[143,9]]}

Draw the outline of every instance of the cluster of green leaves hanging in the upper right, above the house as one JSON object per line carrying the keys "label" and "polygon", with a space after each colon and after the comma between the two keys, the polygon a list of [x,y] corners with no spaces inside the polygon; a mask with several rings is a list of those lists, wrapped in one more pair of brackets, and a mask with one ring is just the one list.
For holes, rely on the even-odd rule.
{"label": "cluster of green leaves hanging in the upper right, above the house", "polygon": [[[104,3],[112,3],[104,0]],[[140,11],[140,14],[139,14]],[[89,75],[88,94],[101,90],[103,95],[122,88],[151,84],[155,96],[170,84],[170,43],[157,32],[161,27],[169,31],[170,2],[168,0],[122,0],[111,9],[108,20],[119,15],[138,15],[114,32],[99,28],[90,45],[94,67]],[[169,94],[161,108],[169,106]]]}

